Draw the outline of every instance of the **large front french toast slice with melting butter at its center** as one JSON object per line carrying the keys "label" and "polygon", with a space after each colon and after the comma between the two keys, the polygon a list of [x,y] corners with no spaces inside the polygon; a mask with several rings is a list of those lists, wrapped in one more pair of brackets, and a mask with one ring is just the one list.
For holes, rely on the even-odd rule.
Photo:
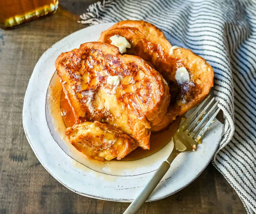
{"label": "large front french toast slice with melting butter at its center", "polygon": [[76,123],[108,123],[149,149],[149,129],[170,102],[169,87],[152,66],[114,45],[89,42],[60,54],[55,67]]}

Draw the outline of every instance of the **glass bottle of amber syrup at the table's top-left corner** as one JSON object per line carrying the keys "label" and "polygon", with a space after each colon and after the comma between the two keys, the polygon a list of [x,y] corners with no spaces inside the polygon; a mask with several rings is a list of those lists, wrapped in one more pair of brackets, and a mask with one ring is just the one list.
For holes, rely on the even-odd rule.
{"label": "glass bottle of amber syrup at the table's top-left corner", "polygon": [[53,13],[58,0],[0,0],[0,27],[10,28]]}

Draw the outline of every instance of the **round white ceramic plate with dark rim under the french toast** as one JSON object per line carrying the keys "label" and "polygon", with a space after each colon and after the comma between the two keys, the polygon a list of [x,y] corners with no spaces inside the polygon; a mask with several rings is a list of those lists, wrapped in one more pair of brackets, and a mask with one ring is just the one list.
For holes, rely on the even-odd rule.
{"label": "round white ceramic plate with dark rim under the french toast", "polygon": [[[48,108],[47,90],[55,71],[54,61],[61,52],[97,41],[113,23],[81,29],[49,48],[38,60],[26,90],[23,126],[26,137],[44,168],[60,183],[78,194],[130,202],[139,194],[154,171],[172,150],[172,143],[160,151],[134,161],[90,161],[66,144]],[[180,45],[182,46],[182,45]],[[222,123],[215,121],[196,152],[179,155],[148,201],[165,198],[186,187],[210,162],[222,134]]]}

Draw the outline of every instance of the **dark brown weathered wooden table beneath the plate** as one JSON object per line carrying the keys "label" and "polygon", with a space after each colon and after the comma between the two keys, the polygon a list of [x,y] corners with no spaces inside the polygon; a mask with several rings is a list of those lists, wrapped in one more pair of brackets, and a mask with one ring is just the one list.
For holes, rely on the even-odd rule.
{"label": "dark brown weathered wooden table beneath the plate", "polygon": [[[13,30],[0,29],[0,214],[123,213],[128,203],[80,196],[57,182],[26,140],[22,106],[39,57],[55,42],[85,26],[79,14],[94,1],[61,0],[56,14]],[[246,213],[235,190],[212,166],[178,193],[146,203],[139,213]]]}

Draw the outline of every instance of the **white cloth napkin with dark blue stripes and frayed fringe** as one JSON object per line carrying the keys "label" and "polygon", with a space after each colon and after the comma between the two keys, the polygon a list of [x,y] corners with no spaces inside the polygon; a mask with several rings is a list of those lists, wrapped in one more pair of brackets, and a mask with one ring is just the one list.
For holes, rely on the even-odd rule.
{"label": "white cloth napkin with dark blue stripes and frayed fringe", "polygon": [[81,23],[146,20],[172,45],[201,55],[214,68],[214,92],[225,135],[212,160],[256,213],[256,1],[116,0],[97,2]]}

